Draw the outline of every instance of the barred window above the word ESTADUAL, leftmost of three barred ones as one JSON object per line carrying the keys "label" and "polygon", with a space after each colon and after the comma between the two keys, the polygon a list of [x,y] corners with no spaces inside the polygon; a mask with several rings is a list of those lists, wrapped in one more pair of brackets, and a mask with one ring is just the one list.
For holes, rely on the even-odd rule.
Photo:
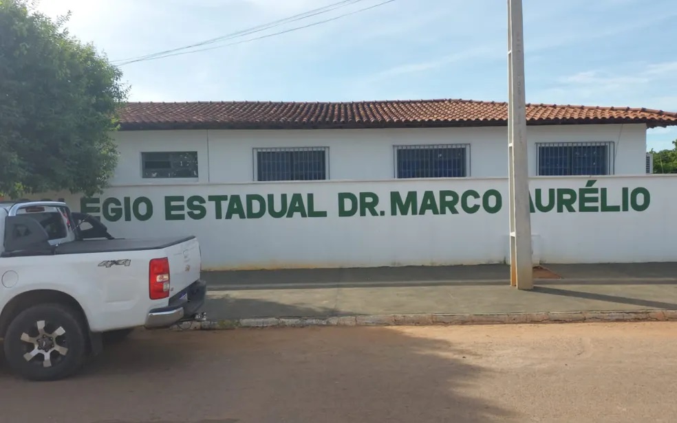
{"label": "barred window above the word ESTADUAL, leftmost of three barred ones", "polygon": [[255,148],[255,181],[323,181],[328,157],[328,147]]}

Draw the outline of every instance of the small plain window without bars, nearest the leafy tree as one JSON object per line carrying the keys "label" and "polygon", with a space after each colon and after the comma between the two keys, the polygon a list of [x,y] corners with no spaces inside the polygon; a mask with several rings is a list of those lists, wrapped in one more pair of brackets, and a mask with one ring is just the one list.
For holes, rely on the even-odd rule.
{"label": "small plain window without bars, nearest the leafy tree", "polygon": [[197,178],[197,151],[142,152],[143,178]]}

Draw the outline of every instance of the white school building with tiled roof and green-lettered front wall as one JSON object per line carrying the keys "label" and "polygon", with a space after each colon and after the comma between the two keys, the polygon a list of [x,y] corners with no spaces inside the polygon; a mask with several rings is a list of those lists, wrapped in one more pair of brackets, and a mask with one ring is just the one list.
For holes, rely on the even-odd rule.
{"label": "white school building with tiled roof and green-lettered front wall", "polygon": [[[647,128],[677,113],[529,104],[535,263],[677,261],[677,179]],[[130,103],[101,196],[124,238],[193,233],[204,269],[509,261],[507,105]]]}

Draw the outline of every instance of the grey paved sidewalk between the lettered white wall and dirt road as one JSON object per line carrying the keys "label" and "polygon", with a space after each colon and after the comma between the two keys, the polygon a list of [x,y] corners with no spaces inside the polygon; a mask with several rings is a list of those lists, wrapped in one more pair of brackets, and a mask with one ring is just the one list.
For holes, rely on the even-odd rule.
{"label": "grey paved sidewalk between the lettered white wall and dirt road", "polygon": [[[677,262],[552,264],[533,291],[505,265],[205,272],[210,320],[677,310]],[[548,271],[552,273],[548,273]]]}

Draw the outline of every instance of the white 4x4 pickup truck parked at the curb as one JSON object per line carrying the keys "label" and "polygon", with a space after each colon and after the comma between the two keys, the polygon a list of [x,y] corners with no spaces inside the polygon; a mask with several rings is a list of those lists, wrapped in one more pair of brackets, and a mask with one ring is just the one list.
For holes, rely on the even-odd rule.
{"label": "white 4x4 pickup truck parked at the curb", "polygon": [[204,320],[194,236],[116,239],[65,203],[0,203],[0,339],[30,380],[56,380],[98,354],[106,336]]}

